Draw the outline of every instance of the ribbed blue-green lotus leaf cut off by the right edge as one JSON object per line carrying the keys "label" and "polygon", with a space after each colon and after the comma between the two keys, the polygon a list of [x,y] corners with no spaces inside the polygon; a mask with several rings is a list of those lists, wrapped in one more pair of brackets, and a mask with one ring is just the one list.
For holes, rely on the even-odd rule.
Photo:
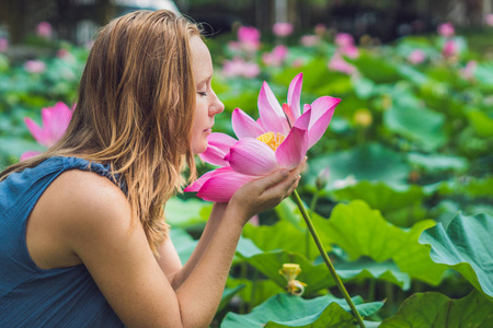
{"label": "ribbed blue-green lotus leaf cut off by the right edge", "polygon": [[493,297],[493,216],[457,214],[444,227],[423,232],[421,244],[431,245],[432,260],[459,271],[479,291]]}

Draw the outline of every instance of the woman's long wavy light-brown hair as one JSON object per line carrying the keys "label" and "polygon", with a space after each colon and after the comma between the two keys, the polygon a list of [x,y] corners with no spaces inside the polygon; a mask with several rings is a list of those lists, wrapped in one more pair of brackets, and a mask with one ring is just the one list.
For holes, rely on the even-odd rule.
{"label": "woman's long wavy light-brown hair", "polygon": [[157,254],[168,237],[163,204],[183,187],[185,164],[190,180],[196,176],[192,36],[200,36],[199,27],[165,10],[133,12],[104,26],[67,132],[45,153],[7,168],[0,180],[51,156],[110,164],[126,185],[133,222],[140,220]]}

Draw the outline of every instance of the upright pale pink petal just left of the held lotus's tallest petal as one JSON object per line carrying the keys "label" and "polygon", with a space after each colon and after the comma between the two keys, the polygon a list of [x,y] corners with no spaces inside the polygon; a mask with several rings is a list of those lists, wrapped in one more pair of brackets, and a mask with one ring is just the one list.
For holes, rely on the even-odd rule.
{"label": "upright pale pink petal just left of the held lotus's tallest petal", "polygon": [[279,132],[284,136],[289,132],[289,125],[283,108],[266,82],[262,85],[259,94],[259,115],[266,131]]}

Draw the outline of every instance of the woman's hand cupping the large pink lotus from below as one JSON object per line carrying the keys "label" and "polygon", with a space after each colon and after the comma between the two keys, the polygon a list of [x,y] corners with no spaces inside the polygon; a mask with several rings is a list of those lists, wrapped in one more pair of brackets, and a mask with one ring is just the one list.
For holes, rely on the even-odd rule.
{"label": "woman's hand cupping the large pink lotus from below", "polygon": [[238,189],[230,200],[245,224],[250,218],[270,210],[280,203],[298,187],[300,173],[307,157],[291,171],[279,169],[265,177],[257,178]]}

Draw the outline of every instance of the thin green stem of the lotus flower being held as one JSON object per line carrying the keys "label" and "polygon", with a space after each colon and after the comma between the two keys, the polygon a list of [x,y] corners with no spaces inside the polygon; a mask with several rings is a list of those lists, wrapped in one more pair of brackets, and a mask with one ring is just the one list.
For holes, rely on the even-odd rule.
{"label": "thin green stem of the lotus flower being held", "polygon": [[319,251],[323,258],[323,261],[325,262],[326,267],[329,268],[329,272],[331,273],[332,278],[335,281],[335,284],[337,285],[339,291],[343,294],[344,300],[346,300],[347,304],[349,305],[351,311],[353,312],[353,316],[356,318],[359,327],[365,328],[365,324],[363,323],[362,316],[359,315],[358,311],[356,309],[356,306],[354,305],[353,300],[351,300],[351,296],[347,293],[346,289],[344,288],[344,284],[342,283],[341,278],[339,278],[337,273],[335,272],[334,266],[332,265],[329,256],[326,255],[325,249],[323,249],[322,242],[320,242],[320,237],[317,234],[313,223],[311,222],[310,216],[308,215],[307,210],[305,209],[305,206],[301,202],[301,199],[299,198],[297,190],[295,190],[291,194],[291,198],[298,206],[299,211],[301,212],[301,215],[303,216],[305,222],[307,223],[308,230],[310,231],[311,236],[313,237],[313,241],[316,242],[317,247],[319,248]]}

